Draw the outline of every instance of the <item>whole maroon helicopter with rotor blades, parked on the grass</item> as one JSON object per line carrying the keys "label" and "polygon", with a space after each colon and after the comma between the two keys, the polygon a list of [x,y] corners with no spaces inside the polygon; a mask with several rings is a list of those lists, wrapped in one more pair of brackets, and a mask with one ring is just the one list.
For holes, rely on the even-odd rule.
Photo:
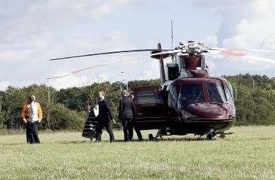
{"label": "whole maroon helicopter with rotor blades, parked on the grass", "polygon": [[[262,49],[209,48],[200,41],[186,41],[179,42],[179,46],[174,49],[161,49],[159,43],[157,49],[134,49],[67,56],[49,61],[103,54],[150,52],[149,56],[159,61],[160,86],[132,89],[137,110],[136,128],[140,130],[157,129],[155,136],[149,134],[149,140],[156,140],[162,136],[184,136],[189,133],[200,137],[206,136],[208,140],[212,140],[215,136],[225,138],[226,134],[231,134],[226,131],[236,121],[236,107],[231,83],[222,77],[209,76],[209,68],[205,62],[204,54],[238,56],[275,64],[272,59],[247,55],[245,51],[275,52]],[[164,59],[169,56],[172,62],[164,65]],[[48,79],[63,78],[73,73],[117,62],[82,68],[63,76],[53,76]]]}

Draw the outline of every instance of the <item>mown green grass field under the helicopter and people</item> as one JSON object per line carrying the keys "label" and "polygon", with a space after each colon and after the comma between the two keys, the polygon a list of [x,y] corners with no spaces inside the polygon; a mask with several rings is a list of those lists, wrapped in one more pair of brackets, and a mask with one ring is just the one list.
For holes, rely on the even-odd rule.
{"label": "mown green grass field under the helicopter and people", "polygon": [[[170,136],[91,143],[81,133],[0,136],[0,179],[275,179],[275,126],[231,128],[225,139]],[[147,134],[154,131],[143,131]],[[136,136],[135,136],[136,138]]]}

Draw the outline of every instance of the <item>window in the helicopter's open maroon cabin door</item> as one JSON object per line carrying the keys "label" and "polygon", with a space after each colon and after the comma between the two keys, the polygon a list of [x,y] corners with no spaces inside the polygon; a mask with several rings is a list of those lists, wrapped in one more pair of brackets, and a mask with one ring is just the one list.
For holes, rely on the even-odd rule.
{"label": "window in the helicopter's open maroon cabin door", "polygon": [[161,104],[161,97],[156,90],[138,92],[135,104]]}

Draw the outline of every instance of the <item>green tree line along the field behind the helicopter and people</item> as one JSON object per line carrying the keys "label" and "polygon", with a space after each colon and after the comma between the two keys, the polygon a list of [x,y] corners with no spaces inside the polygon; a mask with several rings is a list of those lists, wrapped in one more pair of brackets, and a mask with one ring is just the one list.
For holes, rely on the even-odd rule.
{"label": "green tree line along the field behind the helicopter and people", "polygon": [[[236,104],[236,125],[275,124],[275,78],[258,75],[224,76],[233,86]],[[132,80],[128,87],[159,85],[159,79]],[[35,95],[43,109],[39,128],[51,130],[80,130],[87,116],[87,105],[105,90],[116,121],[121,82],[92,83],[80,88],[56,90],[46,85],[29,85],[23,88],[8,86],[0,91],[0,129],[23,128],[20,111],[28,95]],[[117,128],[119,124],[115,125]]]}

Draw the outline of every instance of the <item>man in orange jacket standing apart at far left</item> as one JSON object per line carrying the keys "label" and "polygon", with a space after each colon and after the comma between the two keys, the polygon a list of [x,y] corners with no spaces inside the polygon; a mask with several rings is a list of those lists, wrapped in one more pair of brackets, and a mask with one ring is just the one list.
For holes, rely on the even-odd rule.
{"label": "man in orange jacket standing apart at far left", "polygon": [[42,120],[42,109],[40,104],[35,102],[34,95],[27,97],[21,116],[26,124],[27,143],[40,143],[37,124]]}

